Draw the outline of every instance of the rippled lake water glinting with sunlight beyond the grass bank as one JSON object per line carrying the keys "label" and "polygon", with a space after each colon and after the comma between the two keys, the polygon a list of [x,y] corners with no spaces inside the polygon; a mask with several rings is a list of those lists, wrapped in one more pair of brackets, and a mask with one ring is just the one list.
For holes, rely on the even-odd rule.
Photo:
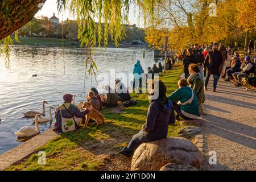
{"label": "rippled lake water glinting with sunlight beyond the grass bank", "polygon": [[[143,58],[143,51],[146,56]],[[0,57],[0,154],[18,146],[15,131],[23,126],[32,125],[34,119],[23,118],[28,110],[42,111],[42,102],[57,106],[63,102],[65,93],[77,95],[76,102],[85,101],[84,73],[85,51],[78,48],[65,49],[65,75],[61,48],[39,48],[18,46],[11,49],[11,70],[5,68],[4,57]],[[142,67],[152,67],[154,51],[147,48],[102,48],[96,49],[93,56],[99,73],[107,73],[115,68],[115,73],[132,73],[136,60]],[[32,75],[37,74],[37,77]],[[91,87],[86,79],[86,92]],[[96,86],[93,80],[93,86]],[[55,121],[53,121],[54,123]],[[53,123],[39,125],[41,132],[53,126]]]}

